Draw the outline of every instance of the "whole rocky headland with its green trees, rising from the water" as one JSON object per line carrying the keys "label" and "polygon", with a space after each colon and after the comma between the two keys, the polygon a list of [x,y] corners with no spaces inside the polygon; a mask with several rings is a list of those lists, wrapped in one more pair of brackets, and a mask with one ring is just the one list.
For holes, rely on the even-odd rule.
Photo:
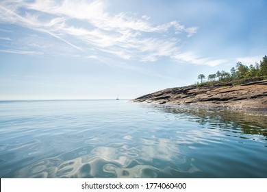
{"label": "whole rocky headland with its green trees, rising from the water", "polygon": [[267,110],[267,57],[255,66],[238,62],[231,73],[217,71],[198,77],[201,82],[194,85],[166,88],[147,94],[134,102],[154,104],[176,104],[205,106],[213,108],[231,108],[242,110]]}

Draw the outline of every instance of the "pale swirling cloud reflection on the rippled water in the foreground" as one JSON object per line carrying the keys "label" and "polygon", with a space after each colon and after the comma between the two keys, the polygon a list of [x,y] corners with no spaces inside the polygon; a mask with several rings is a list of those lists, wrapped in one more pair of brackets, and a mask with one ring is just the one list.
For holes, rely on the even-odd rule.
{"label": "pale swirling cloud reflection on the rippled water in the foreground", "polygon": [[[110,143],[88,154],[69,159],[74,152],[46,158],[17,172],[18,178],[157,178],[200,171],[192,158],[180,154],[178,145],[167,139],[140,139],[133,147]],[[112,147],[112,145],[116,147]],[[111,146],[111,147],[110,147]],[[68,157],[68,159],[64,159]]]}

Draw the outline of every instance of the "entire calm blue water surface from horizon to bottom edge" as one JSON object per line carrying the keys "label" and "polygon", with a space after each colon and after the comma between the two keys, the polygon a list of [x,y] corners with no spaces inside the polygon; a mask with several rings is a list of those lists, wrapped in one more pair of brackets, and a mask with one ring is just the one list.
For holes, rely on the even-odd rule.
{"label": "entire calm blue water surface from horizon to bottom edge", "polygon": [[267,112],[0,101],[0,178],[267,178]]}

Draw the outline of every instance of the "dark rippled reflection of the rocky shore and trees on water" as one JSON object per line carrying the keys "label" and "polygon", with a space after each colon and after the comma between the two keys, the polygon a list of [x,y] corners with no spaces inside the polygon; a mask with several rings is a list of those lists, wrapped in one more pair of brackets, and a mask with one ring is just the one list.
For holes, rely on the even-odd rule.
{"label": "dark rippled reflection of the rocky shore and trees on water", "polygon": [[[267,136],[267,112],[225,110],[220,108],[181,107],[144,105],[144,107],[162,110],[162,112],[179,115],[177,119],[191,119],[207,128],[219,128],[229,132],[241,130],[244,134]],[[188,118],[189,116],[189,118]],[[212,123],[210,123],[212,122]],[[212,125],[212,126],[210,126]],[[264,138],[264,140],[267,140]]]}

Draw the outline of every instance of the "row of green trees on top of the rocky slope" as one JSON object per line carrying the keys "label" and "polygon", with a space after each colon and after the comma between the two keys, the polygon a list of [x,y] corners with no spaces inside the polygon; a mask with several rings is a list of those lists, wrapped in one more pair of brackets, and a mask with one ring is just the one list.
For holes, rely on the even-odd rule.
{"label": "row of green trees on top of the rocky slope", "polygon": [[[262,76],[267,76],[267,56],[264,56],[259,63],[251,64],[249,67],[242,64],[242,62],[237,62],[236,67],[232,67],[230,72],[223,70],[209,74],[207,75],[207,82],[230,82]],[[206,82],[206,77],[203,74],[200,74],[197,78],[201,83]]]}

